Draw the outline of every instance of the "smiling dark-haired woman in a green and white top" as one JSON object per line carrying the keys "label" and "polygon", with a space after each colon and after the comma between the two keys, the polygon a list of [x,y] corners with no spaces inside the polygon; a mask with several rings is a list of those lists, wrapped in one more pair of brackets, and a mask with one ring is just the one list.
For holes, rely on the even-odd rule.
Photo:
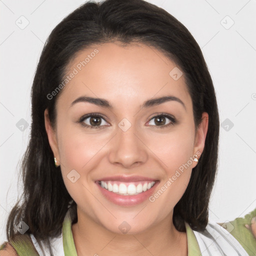
{"label": "smiling dark-haired woman in a green and white top", "polygon": [[24,193],[0,255],[255,253],[248,217],[232,232],[208,220],[215,92],[169,13],[143,0],[83,4],[47,39],[31,96]]}

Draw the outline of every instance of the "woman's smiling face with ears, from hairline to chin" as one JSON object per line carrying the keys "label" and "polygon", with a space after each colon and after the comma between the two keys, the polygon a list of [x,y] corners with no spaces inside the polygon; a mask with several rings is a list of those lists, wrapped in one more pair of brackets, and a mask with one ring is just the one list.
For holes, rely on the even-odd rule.
{"label": "woman's smiling face with ears, from hairline to chin", "polygon": [[84,49],[68,65],[55,130],[47,110],[45,126],[78,221],[137,233],[172,218],[207,131],[206,113],[195,129],[177,68],[153,47],[117,43]]}

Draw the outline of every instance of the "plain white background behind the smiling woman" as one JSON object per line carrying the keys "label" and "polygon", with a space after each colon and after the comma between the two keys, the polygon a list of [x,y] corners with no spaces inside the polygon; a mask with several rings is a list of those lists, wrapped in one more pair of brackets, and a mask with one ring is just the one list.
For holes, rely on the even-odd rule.
{"label": "plain white background behind the smiling woman", "polygon": [[[219,168],[209,205],[216,222],[256,207],[256,1],[150,0],[181,21],[202,49],[216,89],[220,122]],[[21,185],[18,163],[30,132],[30,88],[46,37],[81,0],[0,0],[0,241]],[[20,29],[23,15],[29,24]],[[232,20],[234,24],[230,26]],[[222,21],[221,21],[222,20]],[[24,24],[24,23],[23,23]],[[224,25],[224,26],[223,26]],[[24,118],[24,131],[16,123]],[[19,179],[20,181],[20,179]]]}

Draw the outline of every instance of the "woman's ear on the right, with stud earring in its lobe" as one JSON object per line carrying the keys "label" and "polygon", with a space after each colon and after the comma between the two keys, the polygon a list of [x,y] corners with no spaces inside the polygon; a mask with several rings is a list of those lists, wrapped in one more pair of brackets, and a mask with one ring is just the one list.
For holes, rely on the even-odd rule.
{"label": "woman's ear on the right, with stud earring in its lobe", "polygon": [[[201,122],[198,125],[196,132],[195,132],[193,158],[196,157],[195,155],[197,155],[197,158],[199,159],[199,157],[203,151],[205,137],[206,137],[207,130],[208,130],[208,119],[209,119],[208,113],[203,112],[202,117],[201,117]],[[196,164],[197,164],[197,162],[194,162],[193,165],[195,166]]]}

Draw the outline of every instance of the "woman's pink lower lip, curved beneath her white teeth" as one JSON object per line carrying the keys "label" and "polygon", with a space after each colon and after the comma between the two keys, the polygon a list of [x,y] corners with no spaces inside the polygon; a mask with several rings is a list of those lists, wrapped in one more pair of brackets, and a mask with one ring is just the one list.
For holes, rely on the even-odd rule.
{"label": "woman's pink lower lip, curved beneath her white teeth", "polygon": [[122,206],[131,206],[139,204],[146,199],[149,198],[149,196],[153,193],[156,185],[158,184],[158,180],[155,181],[154,185],[146,190],[145,192],[141,192],[139,194],[135,195],[120,195],[113,192],[108,191],[107,189],[103,188],[98,182],[96,182],[99,190],[101,193],[111,202],[122,205]]}

